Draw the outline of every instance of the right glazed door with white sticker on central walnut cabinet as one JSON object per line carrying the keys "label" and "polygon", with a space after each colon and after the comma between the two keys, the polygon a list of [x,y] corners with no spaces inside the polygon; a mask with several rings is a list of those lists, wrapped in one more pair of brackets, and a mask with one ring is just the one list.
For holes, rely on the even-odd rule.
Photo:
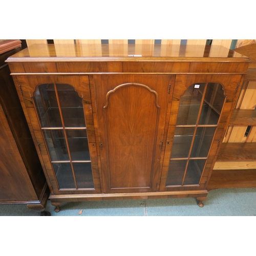
{"label": "right glazed door with white sticker on central walnut cabinet", "polygon": [[241,75],[177,75],[160,190],[204,189]]}

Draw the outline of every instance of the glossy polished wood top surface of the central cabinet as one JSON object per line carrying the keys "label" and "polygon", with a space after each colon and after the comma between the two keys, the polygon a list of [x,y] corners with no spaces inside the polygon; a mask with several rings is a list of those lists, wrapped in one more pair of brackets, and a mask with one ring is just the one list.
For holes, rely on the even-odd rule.
{"label": "glossy polished wood top surface of the central cabinet", "polygon": [[7,62],[34,61],[231,61],[249,58],[223,46],[194,45],[32,45]]}

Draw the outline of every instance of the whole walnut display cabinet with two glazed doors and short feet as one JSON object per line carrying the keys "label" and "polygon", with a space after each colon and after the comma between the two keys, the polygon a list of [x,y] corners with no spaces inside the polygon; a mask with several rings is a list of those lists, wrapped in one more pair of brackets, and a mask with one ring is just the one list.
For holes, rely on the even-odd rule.
{"label": "whole walnut display cabinet with two glazed doors and short feet", "polygon": [[249,61],[204,45],[32,45],[9,57],[55,210],[174,197],[202,207]]}

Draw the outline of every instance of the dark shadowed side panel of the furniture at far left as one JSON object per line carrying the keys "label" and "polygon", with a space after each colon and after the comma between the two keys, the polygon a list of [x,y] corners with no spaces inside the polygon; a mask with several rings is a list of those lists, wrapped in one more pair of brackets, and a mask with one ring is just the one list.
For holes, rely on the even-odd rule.
{"label": "dark shadowed side panel of the furniture at far left", "polygon": [[10,70],[5,66],[0,70],[0,102],[7,117],[12,136],[17,145],[20,156],[23,159],[31,182],[38,198],[46,183],[39,158],[36,154],[31,133],[20,104]]}

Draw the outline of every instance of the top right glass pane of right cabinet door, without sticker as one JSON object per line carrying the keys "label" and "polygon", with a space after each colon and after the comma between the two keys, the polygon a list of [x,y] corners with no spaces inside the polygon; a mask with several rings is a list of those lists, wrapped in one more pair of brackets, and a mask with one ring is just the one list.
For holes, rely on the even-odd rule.
{"label": "top right glass pane of right cabinet door, without sticker", "polygon": [[225,96],[220,83],[208,83],[199,124],[217,124]]}

